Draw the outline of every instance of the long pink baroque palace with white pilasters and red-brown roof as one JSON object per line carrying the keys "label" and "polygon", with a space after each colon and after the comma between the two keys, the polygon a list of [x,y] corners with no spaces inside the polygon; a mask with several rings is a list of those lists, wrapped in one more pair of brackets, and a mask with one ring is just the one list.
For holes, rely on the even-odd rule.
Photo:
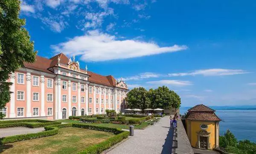
{"label": "long pink baroque palace with white pilasters and red-brown roof", "polygon": [[35,63],[12,73],[11,100],[0,110],[6,119],[67,119],[68,116],[118,113],[125,107],[128,92],[124,81],[81,69],[79,61],[60,53],[47,59],[36,56]]}

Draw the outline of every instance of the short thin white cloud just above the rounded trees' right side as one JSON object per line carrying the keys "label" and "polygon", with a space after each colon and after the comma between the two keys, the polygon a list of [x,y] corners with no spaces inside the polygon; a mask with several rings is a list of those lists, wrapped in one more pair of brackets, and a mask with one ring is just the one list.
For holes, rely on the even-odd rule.
{"label": "short thin white cloud just above the rounded trees' right side", "polygon": [[159,81],[149,81],[147,83],[148,84],[158,84],[159,86],[172,85],[172,86],[177,86],[177,87],[192,85],[192,82],[182,81],[182,80],[159,80]]}

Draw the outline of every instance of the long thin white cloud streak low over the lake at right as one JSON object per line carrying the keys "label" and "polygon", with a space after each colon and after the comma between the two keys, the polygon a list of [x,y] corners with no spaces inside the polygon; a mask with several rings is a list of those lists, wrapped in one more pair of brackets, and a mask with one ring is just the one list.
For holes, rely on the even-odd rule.
{"label": "long thin white cloud streak low over the lake at right", "polygon": [[168,76],[230,76],[236,74],[249,73],[245,70],[229,70],[229,69],[207,69],[207,70],[196,70],[190,73],[169,73]]}

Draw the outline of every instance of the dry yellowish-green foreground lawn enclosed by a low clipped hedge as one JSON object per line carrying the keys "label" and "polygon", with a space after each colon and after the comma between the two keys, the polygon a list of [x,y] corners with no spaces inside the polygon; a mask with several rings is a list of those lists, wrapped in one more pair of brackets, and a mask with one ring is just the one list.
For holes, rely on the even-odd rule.
{"label": "dry yellowish-green foreground lawn enclosed by a low clipped hedge", "polygon": [[3,154],[74,154],[114,134],[84,128],[61,128],[57,135],[0,145]]}

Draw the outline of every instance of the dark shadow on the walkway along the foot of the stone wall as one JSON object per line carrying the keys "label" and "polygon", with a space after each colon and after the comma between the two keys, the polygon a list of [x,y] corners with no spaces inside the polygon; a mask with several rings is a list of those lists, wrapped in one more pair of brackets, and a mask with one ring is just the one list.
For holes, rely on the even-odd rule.
{"label": "dark shadow on the walkway along the foot of the stone wall", "polygon": [[161,154],[172,154],[174,150],[172,148],[174,130],[173,128],[170,128],[170,127],[164,127],[164,128],[169,128],[169,131],[166,136]]}

